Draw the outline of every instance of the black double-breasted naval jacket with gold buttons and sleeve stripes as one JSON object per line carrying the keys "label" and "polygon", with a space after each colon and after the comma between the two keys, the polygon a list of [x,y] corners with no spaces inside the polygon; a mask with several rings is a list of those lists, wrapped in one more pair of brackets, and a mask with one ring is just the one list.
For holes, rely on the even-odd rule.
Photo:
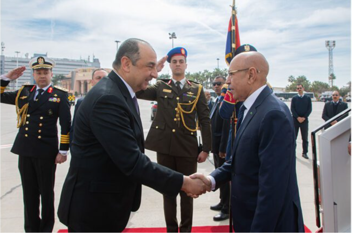
{"label": "black double-breasted naval jacket with gold buttons and sleeve stripes", "polygon": [[[1,87],[9,81],[1,80]],[[24,85],[21,92],[1,90],[1,103],[17,105],[21,109],[28,104],[25,125],[19,127],[11,152],[20,156],[55,158],[60,150],[69,149],[71,112],[67,91],[50,86],[34,102],[36,85]],[[19,93],[19,95],[18,95]],[[58,148],[57,119],[61,125],[61,140]]]}

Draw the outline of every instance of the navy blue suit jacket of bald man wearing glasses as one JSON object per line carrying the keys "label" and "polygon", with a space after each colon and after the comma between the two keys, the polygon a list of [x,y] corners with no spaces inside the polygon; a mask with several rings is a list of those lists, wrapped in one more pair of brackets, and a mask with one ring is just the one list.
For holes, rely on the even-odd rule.
{"label": "navy blue suit jacket of bald man wearing glasses", "polygon": [[234,141],[232,159],[210,174],[231,180],[235,232],[304,232],[288,107],[265,87]]}

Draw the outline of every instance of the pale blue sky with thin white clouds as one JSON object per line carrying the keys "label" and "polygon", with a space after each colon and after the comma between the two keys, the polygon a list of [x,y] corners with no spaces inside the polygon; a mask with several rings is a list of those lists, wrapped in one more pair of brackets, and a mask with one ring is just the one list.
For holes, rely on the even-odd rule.
{"label": "pale blue sky with thin white clouds", "polygon": [[[158,58],[174,46],[187,49],[193,73],[227,69],[225,43],[231,0],[3,0],[1,42],[5,56],[46,53],[49,57],[99,58],[111,68],[115,40],[140,38]],[[325,40],[333,49],[335,85],[351,80],[350,0],[237,0],[241,44],[251,44],[270,65],[268,81],[285,87],[288,76],[328,82]],[[171,73],[168,65],[161,73]],[[160,73],[160,74],[161,74]]]}

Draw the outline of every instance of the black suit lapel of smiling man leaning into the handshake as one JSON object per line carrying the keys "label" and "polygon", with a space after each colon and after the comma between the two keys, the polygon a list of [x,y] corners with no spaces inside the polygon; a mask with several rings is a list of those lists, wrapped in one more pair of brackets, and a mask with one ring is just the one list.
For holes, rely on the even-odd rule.
{"label": "black suit lapel of smiling man leaning into the handshake", "polygon": [[121,90],[122,95],[125,97],[127,105],[130,108],[134,119],[137,121],[137,125],[139,127],[140,132],[142,133],[142,142],[144,147],[144,133],[143,133],[142,121],[140,120],[140,117],[137,113],[137,109],[134,106],[134,102],[132,100],[130,92],[128,91],[125,83],[122,82],[121,78],[113,70],[110,72],[108,76],[117,83],[118,87]]}

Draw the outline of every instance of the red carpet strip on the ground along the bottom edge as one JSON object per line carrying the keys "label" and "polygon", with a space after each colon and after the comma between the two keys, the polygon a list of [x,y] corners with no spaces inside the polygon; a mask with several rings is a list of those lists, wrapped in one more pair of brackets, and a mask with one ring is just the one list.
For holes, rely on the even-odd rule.
{"label": "red carpet strip on the ground along the bottom edge", "polygon": [[[66,233],[67,229],[59,230],[58,232]],[[123,232],[166,232],[166,227],[141,227],[141,228],[126,228]],[[201,226],[192,227],[192,232],[228,232],[227,226]],[[311,232],[306,225],[304,225],[304,232]]]}

